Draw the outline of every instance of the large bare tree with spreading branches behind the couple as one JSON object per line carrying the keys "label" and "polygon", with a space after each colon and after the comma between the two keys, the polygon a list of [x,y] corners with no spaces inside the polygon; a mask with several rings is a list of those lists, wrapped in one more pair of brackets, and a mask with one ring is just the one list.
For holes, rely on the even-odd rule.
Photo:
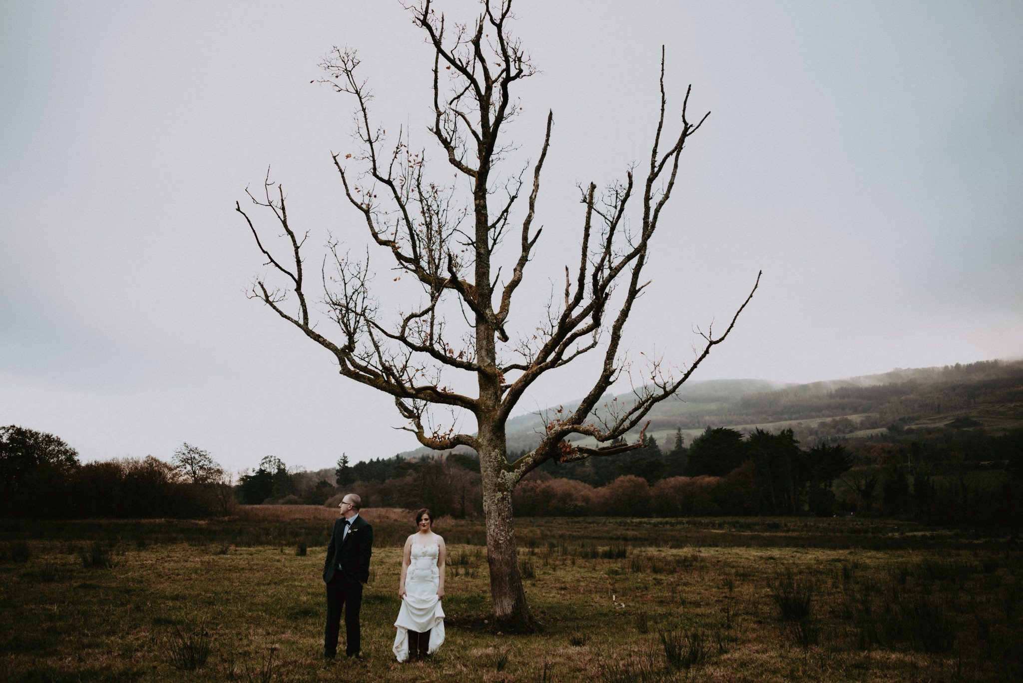
{"label": "large bare tree with spreading branches behind the couple", "polygon": [[[528,629],[533,617],[519,573],[511,518],[516,485],[547,460],[572,462],[640,446],[646,431],[641,423],[648,412],[671,396],[711,348],[724,340],[756,286],[723,334],[715,337],[709,330],[702,335],[702,352],[696,353],[687,368],[668,370],[655,361],[642,381],[633,383],[638,388],[630,401],[602,403],[608,389],[630,368],[620,348],[622,331],[636,297],[649,285],[642,280],[648,245],[674,189],[682,148],[707,118],[704,115],[695,123],[688,119],[686,90],[680,129],[670,137],[664,130],[662,48],[661,110],[649,167],[644,165],[635,176],[635,169],[628,169],[624,181],[603,193],[597,193],[593,183],[580,186],[584,207],[581,248],[574,272],[565,268],[564,301],[560,296],[552,298],[544,319],[513,341],[506,325],[516,291],[540,238],[541,230],[533,228],[533,220],[553,117],[547,116],[531,183],[524,179],[529,178],[528,166],[510,173],[502,171],[511,146],[501,133],[520,110],[511,90],[518,81],[534,75],[535,69],[508,31],[511,0],[484,0],[481,4],[481,13],[472,25],[446,26],[444,15],[434,11],[430,0],[408,8],[434,51],[435,116],[429,131],[455,169],[455,176],[468,180],[464,206],[458,204],[456,186],[428,178],[426,153],[408,147],[405,131],[387,143],[385,130],[370,122],[371,93],[356,74],[356,53],[333,48],[322,63],[327,72],[323,82],[353,96],[356,102],[360,152],[354,155],[354,162],[360,164],[361,172],[354,173],[346,166],[353,155],[332,155],[345,195],[361,214],[371,241],[390,252],[398,274],[394,282],[405,275],[406,282],[417,285],[419,305],[388,318],[381,312],[377,290],[370,290],[368,254],[364,259],[353,259],[337,242],[330,242],[321,270],[322,303],[338,325],[340,338],[328,338],[310,321],[300,253],[305,236],[288,224],[283,189],[271,183],[268,175],[264,191],[250,197],[274,214],[286,236],[284,260],[264,245],[240,205],[236,209],[249,223],[267,264],[285,283],[278,289],[258,279],[252,296],[327,349],[342,375],[394,396],[398,412],[408,421],[405,428],[420,443],[438,451],[464,445],[479,454],[494,616],[505,628]],[[524,187],[529,194],[525,207],[519,210],[517,202]],[[634,221],[638,227],[629,228],[624,220],[626,208],[636,203],[632,200],[637,195],[636,213],[641,218]],[[521,227],[513,228],[516,215]],[[507,263],[509,271],[504,270],[502,276],[495,251],[513,229],[518,249]],[[285,306],[290,292],[297,299],[294,309]],[[456,326],[462,318],[465,326],[459,334]],[[540,444],[509,464],[505,421],[523,394],[543,374],[589,352],[602,354],[604,361],[588,393],[575,410],[559,410],[546,420]],[[473,380],[475,396],[458,390],[459,386],[468,388]],[[476,433],[457,431],[458,423],[453,420],[439,423],[431,411],[438,407],[454,414],[471,414]],[[637,443],[612,443],[640,426]],[[568,437],[574,435],[592,437],[596,444],[582,447],[570,443]]]}

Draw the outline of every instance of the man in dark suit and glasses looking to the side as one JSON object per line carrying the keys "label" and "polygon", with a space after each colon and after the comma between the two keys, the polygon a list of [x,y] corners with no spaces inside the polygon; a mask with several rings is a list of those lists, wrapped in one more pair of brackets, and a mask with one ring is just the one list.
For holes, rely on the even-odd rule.
{"label": "man in dark suit and glasses looking to the side", "polygon": [[342,516],[333,523],[323,564],[323,581],[326,583],[323,656],[327,659],[332,659],[338,652],[342,608],[345,611],[347,640],[345,653],[350,657],[362,656],[359,652],[359,607],[362,605],[362,585],[369,580],[369,557],[373,553],[373,527],[359,516],[362,499],[348,494],[338,507]]}

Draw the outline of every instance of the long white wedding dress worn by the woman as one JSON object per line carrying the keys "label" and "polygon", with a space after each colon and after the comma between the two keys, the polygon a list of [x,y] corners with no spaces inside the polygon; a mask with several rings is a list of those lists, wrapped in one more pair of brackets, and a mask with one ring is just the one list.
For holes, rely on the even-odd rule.
{"label": "long white wedding dress worn by the woman", "polygon": [[440,570],[437,557],[440,547],[412,544],[408,569],[405,572],[405,597],[394,623],[398,634],[394,638],[394,654],[398,661],[408,659],[408,632],[430,632],[429,652],[433,654],[444,643],[444,608],[437,597]]}

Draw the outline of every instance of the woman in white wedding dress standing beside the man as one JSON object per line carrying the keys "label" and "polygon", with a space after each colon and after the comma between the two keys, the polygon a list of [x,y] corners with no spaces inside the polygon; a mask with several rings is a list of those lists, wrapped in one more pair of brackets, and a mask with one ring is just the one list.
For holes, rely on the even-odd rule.
{"label": "woman in white wedding dress standing beside the man", "polygon": [[430,510],[415,513],[417,530],[405,541],[398,596],[401,609],[394,654],[398,661],[416,661],[444,643],[444,539],[433,532]]}

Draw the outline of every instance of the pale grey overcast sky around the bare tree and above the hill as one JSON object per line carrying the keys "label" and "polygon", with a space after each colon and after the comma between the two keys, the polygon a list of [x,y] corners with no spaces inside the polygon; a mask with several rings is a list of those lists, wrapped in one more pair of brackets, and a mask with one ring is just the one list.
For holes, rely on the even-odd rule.
{"label": "pale grey overcast sky around the bare tree and above the hill", "polygon": [[[730,317],[763,269],[695,379],[1023,354],[1023,4],[516,6],[541,70],[518,91],[522,159],[554,114],[533,300],[575,259],[576,183],[649,158],[663,44],[669,121],[690,83],[712,114],[654,239],[633,353],[684,364],[694,328]],[[437,7],[471,20],[477,4]],[[364,241],[329,156],[354,150],[352,101],[310,84],[333,45],[359,49],[379,121],[442,161],[432,56],[397,2],[0,3],[0,424],[85,460],[188,441],[234,470],[417,445],[391,400],[244,295],[265,268],[234,202],[268,166],[311,262],[328,234]],[[520,412],[582,395],[591,369]]]}

